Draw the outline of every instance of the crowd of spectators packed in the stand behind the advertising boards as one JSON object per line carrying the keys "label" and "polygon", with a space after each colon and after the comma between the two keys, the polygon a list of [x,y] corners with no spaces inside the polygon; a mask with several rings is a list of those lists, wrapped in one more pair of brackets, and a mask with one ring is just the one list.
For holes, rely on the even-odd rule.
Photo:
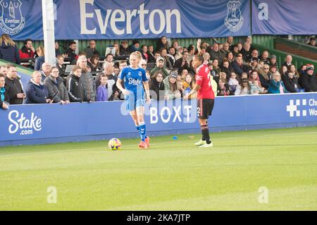
{"label": "crowd of spectators packed in the stand behind the advertising boards", "polygon": [[[139,66],[147,71],[153,99],[178,99],[192,90],[195,54],[204,56],[204,63],[211,70],[213,91],[218,96],[317,92],[313,65],[296,68],[292,56],[287,55],[278,68],[277,57],[254,48],[250,37],[236,44],[233,37],[228,37],[225,43],[214,42],[211,46],[199,39],[188,47],[180,46],[177,40],[170,44],[165,36],[156,46],[140,45],[137,40],[129,45],[123,40],[120,45],[113,43],[115,54],[107,54],[104,61],[99,59],[101,55],[94,40],[90,40],[89,46],[79,54],[75,53],[76,42],[70,42],[64,53],[56,42],[55,65],[45,63],[44,47],[35,50],[31,39],[27,39],[20,50],[8,35],[1,35],[0,42],[1,59],[20,63],[20,59],[36,57],[35,72],[26,87],[23,87],[14,64],[0,67],[0,107],[3,109],[8,104],[123,100],[116,80],[129,61],[114,61],[113,57],[128,57],[134,51],[142,56]],[[69,74],[65,71],[66,56],[70,64],[75,65]],[[195,98],[195,95],[191,97]]]}

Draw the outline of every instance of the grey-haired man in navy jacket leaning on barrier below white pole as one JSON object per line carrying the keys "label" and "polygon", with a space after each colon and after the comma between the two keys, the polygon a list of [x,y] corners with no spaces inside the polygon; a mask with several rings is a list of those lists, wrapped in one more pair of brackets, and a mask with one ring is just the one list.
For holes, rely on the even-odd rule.
{"label": "grey-haired man in navy jacket leaning on barrier below white pole", "polygon": [[42,83],[41,78],[42,75],[39,71],[32,73],[32,79],[30,79],[25,88],[25,104],[53,103],[53,101],[49,99],[49,90],[47,90],[47,87]]}

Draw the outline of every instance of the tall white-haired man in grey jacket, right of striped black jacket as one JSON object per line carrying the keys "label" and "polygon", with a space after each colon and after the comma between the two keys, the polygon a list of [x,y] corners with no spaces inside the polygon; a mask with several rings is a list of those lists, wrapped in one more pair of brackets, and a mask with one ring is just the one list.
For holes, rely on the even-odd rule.
{"label": "tall white-haired man in grey jacket, right of striped black jacket", "polygon": [[78,58],[77,66],[82,68],[80,83],[82,83],[82,87],[84,87],[84,98],[87,102],[94,102],[96,100],[96,84],[94,83],[92,73],[88,71],[86,56],[80,56]]}

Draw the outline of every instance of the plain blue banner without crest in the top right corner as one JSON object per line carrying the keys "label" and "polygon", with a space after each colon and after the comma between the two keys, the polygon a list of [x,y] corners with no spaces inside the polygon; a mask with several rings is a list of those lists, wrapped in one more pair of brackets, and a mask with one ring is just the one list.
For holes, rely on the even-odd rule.
{"label": "plain blue banner without crest in the top right corner", "polygon": [[253,0],[253,35],[316,35],[316,0]]}

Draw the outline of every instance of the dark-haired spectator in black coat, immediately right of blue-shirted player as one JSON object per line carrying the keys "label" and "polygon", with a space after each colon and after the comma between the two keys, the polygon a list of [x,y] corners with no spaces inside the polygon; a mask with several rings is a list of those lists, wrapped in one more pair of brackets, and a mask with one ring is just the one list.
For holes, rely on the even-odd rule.
{"label": "dark-haired spectator in black coat, immediately right of blue-shirted player", "polygon": [[149,82],[151,99],[163,100],[165,96],[165,85],[163,83],[163,73],[156,71]]}

